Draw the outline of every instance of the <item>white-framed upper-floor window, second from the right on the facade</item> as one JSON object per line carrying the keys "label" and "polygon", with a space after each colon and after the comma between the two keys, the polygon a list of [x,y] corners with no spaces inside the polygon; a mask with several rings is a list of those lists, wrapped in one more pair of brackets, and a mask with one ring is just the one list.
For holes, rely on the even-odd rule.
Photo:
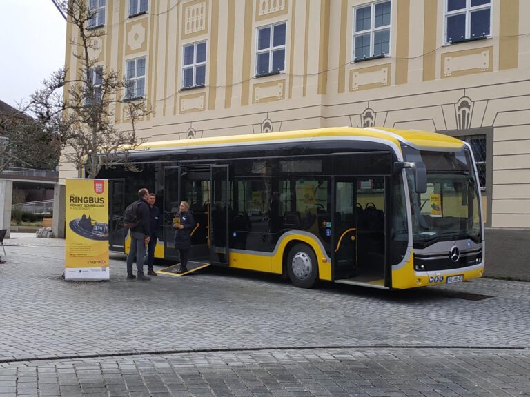
{"label": "white-framed upper-floor window, second from the right on the facade", "polygon": [[390,21],[390,1],[353,10],[353,61],[390,54]]}

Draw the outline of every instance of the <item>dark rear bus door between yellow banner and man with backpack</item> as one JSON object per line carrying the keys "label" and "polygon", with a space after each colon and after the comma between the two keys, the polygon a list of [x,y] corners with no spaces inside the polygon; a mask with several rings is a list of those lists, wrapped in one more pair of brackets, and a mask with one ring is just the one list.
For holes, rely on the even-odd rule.
{"label": "dark rear bus door between yellow banner and man with backpack", "polygon": [[125,211],[125,180],[108,180],[108,245],[111,251],[125,250],[124,211]]}

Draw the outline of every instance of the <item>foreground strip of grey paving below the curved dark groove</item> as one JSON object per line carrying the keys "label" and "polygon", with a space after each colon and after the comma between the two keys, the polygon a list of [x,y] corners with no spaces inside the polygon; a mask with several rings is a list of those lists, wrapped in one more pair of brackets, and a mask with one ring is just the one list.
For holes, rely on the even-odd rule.
{"label": "foreground strip of grey paving below the curved dark groove", "polygon": [[1,396],[529,396],[530,355],[307,349],[54,360],[0,369]]}

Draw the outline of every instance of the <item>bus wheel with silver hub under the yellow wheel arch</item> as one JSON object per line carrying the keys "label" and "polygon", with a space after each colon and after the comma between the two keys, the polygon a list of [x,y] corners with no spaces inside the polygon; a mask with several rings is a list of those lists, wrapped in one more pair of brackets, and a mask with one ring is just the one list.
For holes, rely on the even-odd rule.
{"label": "bus wheel with silver hub under the yellow wheel arch", "polygon": [[318,263],[313,250],[306,244],[294,245],[287,256],[287,272],[291,283],[300,288],[315,287]]}

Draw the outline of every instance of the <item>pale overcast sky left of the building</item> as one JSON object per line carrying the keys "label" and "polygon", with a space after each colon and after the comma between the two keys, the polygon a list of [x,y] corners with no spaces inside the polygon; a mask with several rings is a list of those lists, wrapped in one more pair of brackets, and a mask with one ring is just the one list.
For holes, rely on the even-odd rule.
{"label": "pale overcast sky left of the building", "polygon": [[16,107],[64,65],[66,21],[51,0],[0,3],[0,100]]}

